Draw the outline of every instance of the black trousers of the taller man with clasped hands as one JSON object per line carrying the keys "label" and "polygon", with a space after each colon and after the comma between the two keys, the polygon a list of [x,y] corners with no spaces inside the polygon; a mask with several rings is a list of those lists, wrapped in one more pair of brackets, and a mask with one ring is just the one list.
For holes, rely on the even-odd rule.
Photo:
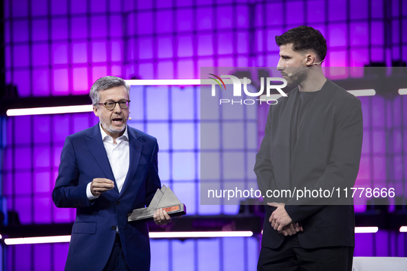
{"label": "black trousers of the taller man with clasped hands", "polygon": [[351,271],[353,250],[351,246],[305,249],[293,235],[280,248],[262,247],[258,271]]}

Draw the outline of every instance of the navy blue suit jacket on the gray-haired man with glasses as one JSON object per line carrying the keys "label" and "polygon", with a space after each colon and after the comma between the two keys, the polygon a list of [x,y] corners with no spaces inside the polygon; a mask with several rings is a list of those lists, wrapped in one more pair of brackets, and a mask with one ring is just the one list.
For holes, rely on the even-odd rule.
{"label": "navy blue suit jacket on the gray-haired man with glasses", "polygon": [[[103,270],[112,252],[116,226],[131,270],[149,270],[145,222],[127,222],[127,214],[148,206],[160,188],[156,138],[128,127],[129,171],[118,193],[99,124],[67,136],[52,199],[56,207],[76,208],[65,270]],[[94,178],[115,182],[114,189],[90,202],[86,186]]]}

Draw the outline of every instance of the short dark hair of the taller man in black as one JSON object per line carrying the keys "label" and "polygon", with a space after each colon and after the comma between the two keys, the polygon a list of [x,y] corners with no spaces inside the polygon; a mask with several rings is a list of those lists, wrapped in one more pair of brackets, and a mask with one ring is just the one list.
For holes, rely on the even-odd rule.
{"label": "short dark hair of the taller man in black", "polygon": [[278,47],[293,43],[295,52],[305,53],[313,50],[319,61],[323,61],[326,56],[326,39],[321,32],[311,26],[301,25],[297,28],[291,28],[281,36],[275,36],[275,43]]}

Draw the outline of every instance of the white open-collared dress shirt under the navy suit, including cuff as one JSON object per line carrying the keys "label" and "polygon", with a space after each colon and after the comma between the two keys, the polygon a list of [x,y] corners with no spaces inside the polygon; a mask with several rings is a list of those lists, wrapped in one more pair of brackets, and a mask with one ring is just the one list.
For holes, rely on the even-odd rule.
{"label": "white open-collared dress shirt under the navy suit, including cuff", "polygon": [[[107,158],[109,159],[110,168],[112,169],[114,180],[118,188],[118,193],[121,192],[123,184],[129,171],[130,164],[130,147],[129,147],[129,135],[127,133],[127,125],[125,133],[121,137],[116,138],[116,144],[113,142],[113,138],[102,129],[100,124],[103,146],[105,147]],[[89,200],[96,199],[90,191],[90,183],[87,184],[86,195]]]}

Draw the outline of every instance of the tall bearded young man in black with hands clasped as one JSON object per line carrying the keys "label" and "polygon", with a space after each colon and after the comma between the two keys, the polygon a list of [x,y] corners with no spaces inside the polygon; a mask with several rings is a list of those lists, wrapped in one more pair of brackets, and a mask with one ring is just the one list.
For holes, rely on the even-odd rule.
{"label": "tall bearded young man in black with hands clasped", "polygon": [[270,107],[256,156],[254,171],[268,205],[258,270],[351,271],[353,199],[266,192],[352,187],[362,151],[361,102],[322,73],[326,40],[318,30],[302,25],[275,41],[278,70],[298,87]]}

